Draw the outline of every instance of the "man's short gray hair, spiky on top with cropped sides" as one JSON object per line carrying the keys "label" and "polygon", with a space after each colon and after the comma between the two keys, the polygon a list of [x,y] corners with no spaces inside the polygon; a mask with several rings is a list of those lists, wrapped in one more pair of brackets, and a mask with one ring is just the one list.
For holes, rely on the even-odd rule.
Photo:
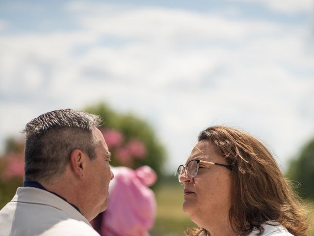
{"label": "man's short gray hair, spiky on top with cropped sides", "polygon": [[71,109],[48,112],[28,122],[25,180],[50,181],[62,174],[74,149],[94,159],[99,140],[93,128],[101,122],[99,116]]}

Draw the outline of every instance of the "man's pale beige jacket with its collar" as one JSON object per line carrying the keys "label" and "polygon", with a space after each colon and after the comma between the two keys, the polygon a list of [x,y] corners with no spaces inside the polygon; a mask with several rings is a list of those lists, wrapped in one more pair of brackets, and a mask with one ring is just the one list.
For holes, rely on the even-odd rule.
{"label": "man's pale beige jacket with its collar", "polygon": [[19,187],[0,210],[0,236],[99,236],[87,219],[54,194]]}

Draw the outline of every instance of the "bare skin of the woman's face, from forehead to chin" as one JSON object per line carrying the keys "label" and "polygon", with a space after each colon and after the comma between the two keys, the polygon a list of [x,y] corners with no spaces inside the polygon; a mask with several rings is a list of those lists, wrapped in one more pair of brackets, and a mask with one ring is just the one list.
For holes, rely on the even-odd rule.
{"label": "bare skin of the woman's face, from forehead to chin", "polygon": [[[193,159],[228,164],[208,140],[200,141],[193,148],[185,164]],[[183,175],[180,179],[184,183],[183,211],[192,221],[204,228],[208,226],[205,224],[214,226],[228,221],[231,207],[231,171],[229,169],[200,162],[195,177]]]}

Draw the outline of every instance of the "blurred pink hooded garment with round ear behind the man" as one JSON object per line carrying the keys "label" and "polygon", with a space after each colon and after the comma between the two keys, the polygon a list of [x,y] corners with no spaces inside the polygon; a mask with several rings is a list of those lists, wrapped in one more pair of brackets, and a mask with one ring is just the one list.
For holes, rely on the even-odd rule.
{"label": "blurred pink hooded garment with round ear behind the man", "polygon": [[148,188],[157,176],[148,166],[136,171],[114,168],[114,186],[109,193],[101,233],[103,236],[149,236],[156,214],[154,192]]}

